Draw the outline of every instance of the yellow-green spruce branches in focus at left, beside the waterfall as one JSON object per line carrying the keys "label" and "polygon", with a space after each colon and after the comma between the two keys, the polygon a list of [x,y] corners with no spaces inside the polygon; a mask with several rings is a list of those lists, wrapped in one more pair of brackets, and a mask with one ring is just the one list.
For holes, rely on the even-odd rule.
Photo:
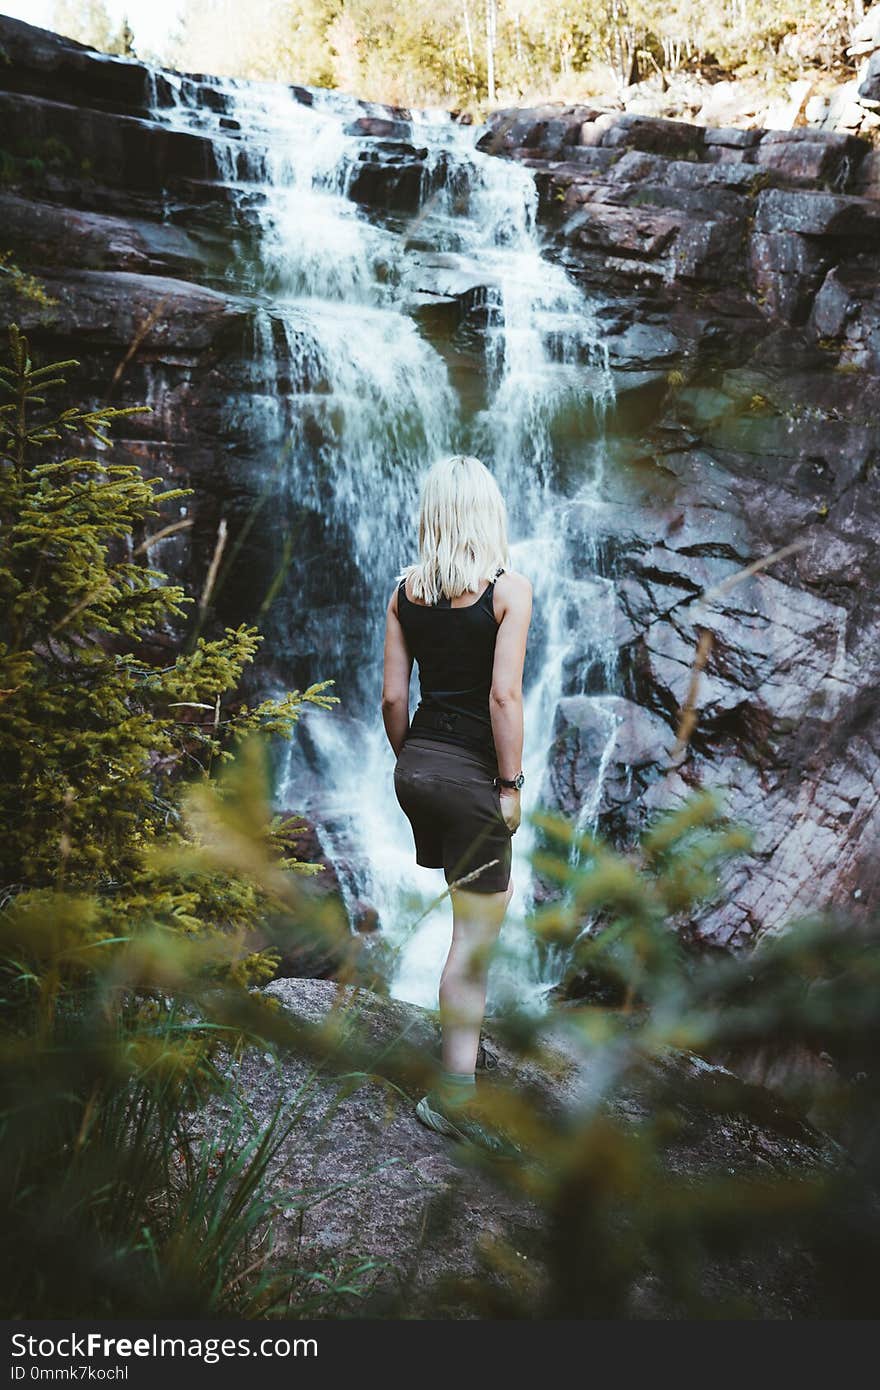
{"label": "yellow-green spruce branches in focus at left, beside the waterfall", "polygon": [[53,456],[83,436],[103,453],[111,425],[138,410],[50,409],[72,366],[35,366],[17,328],[0,366],[0,862],[7,883],[118,894],[177,821],[182,766],[207,773],[246,734],[289,735],[303,703],[332,696],[321,682],[235,702],[260,642],[252,627],[199,638],[167,666],[147,659],[152,634],[190,600],[133,537],[185,493],[132,464]]}

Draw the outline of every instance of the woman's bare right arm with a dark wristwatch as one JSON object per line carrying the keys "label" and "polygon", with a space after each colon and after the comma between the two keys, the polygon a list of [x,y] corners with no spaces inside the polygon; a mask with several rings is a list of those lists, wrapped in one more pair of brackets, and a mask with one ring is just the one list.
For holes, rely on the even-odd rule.
{"label": "woman's bare right arm with a dark wristwatch", "polygon": [[[495,585],[500,605],[495,664],[489,691],[492,737],[499,777],[513,778],[523,766],[523,666],[531,623],[531,584],[524,574],[506,574]],[[500,790],[502,812],[512,830],[520,823],[520,794]]]}

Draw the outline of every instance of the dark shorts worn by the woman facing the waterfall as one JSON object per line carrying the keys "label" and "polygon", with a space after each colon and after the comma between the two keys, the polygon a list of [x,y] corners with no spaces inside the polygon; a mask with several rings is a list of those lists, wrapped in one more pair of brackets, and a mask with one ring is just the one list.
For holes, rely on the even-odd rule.
{"label": "dark shorts worn by the woman facing the waterfall", "polygon": [[455,883],[498,860],[462,885],[468,892],[503,892],[510,883],[512,834],[492,783],[495,770],[478,752],[423,737],[407,738],[395,764],[416,863],[442,869],[446,883]]}

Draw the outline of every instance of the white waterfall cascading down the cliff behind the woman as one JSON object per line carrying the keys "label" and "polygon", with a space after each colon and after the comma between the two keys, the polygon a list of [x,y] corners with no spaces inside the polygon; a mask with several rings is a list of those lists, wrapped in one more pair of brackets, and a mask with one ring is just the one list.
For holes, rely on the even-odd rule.
{"label": "white waterfall cascading down the cliff behind the woman", "polygon": [[[386,111],[334,93],[304,104],[279,85],[220,81],[213,89],[222,100],[206,108],[196,83],[164,82],[156,118],[210,133],[222,182],[259,227],[256,260],[232,272],[254,306],[253,389],[236,404],[235,427],[260,442],[272,513],[295,507],[325,518],[349,575],[339,621],[324,624],[309,677],[332,676],[342,705],[307,716],[306,737],[279,773],[278,805],[317,820],[349,906],[366,899],[378,910],[393,952],[392,992],[435,1004],[450,913],[445,901],[432,906],[442,876],[414,865],[393,796],[381,651],[395,575],[416,555],[420,477],[443,453],[475,453],[505,492],[512,560],[535,595],[524,820],[513,841],[519,891],[489,1005],[538,1004],[556,966],[525,926],[527,816],[541,796],[571,659],[576,669],[578,660],[584,670],[603,667],[606,680],[613,667],[609,581],[591,573],[582,520],[598,505],[613,393],[595,306],[541,253],[530,171],[480,153],[480,132],[445,113],[413,113],[409,125],[423,152],[417,213],[368,218],[349,196],[367,143],[352,121]],[[470,327],[432,334],[420,309],[462,293]],[[272,610],[270,628],[277,644],[296,646],[309,609],[296,598],[314,591],[321,563],[332,589],[329,562],[317,550],[292,562],[288,549],[291,598]],[[609,721],[609,751],[613,738]],[[310,787],[318,788],[313,803]],[[595,819],[599,794],[601,771],[584,823]]]}

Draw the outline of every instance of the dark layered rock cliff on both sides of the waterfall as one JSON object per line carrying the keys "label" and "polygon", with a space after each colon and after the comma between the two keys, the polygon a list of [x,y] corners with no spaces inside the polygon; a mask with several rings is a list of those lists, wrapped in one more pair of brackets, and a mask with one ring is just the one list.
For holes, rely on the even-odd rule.
{"label": "dark layered rock cliff on both sides of the waterfall", "polygon": [[[282,353],[260,377],[266,318],[241,288],[261,193],[253,181],[232,196],[241,149],[224,170],[207,135],[156,113],[177,99],[174,78],[188,101],[236,121],[210,79],[99,57],[6,18],[0,46],[0,252],[54,300],[22,297],[6,274],[0,313],[42,354],[82,360],[83,398],[152,406],[125,424],[122,455],[195,489],[192,530],[152,559],[197,592],[225,517],[241,543],[215,616],[250,620],[288,555],[281,534],[253,525],[264,502],[254,421],[291,391]],[[350,106],[363,140],[352,197],[368,215],[414,211],[443,179],[442,154],[428,158],[406,111]],[[880,154],[845,132],[589,106],[495,113],[481,146],[534,171],[546,250],[595,296],[616,391],[589,518],[613,581],[602,602],[614,671],[581,660],[588,614],[573,610],[545,801],[595,813],[626,844],[688,788],[722,787],[758,838],[722,905],[691,924],[715,944],[747,945],[826,902],[876,908]],[[473,265],[421,254],[413,314],[425,331],[487,313]],[[478,381],[462,378],[478,409]],[[304,685],[331,628],[356,644],[346,595],[359,577],[332,520],[296,498],[285,506],[335,585],[327,607],[302,605],[284,664],[263,664],[266,682]],[[571,520],[577,573],[576,507]],[[701,602],[791,542],[801,548],[767,571]],[[699,721],[670,771],[703,630]],[[359,913],[375,926],[370,903]]]}

